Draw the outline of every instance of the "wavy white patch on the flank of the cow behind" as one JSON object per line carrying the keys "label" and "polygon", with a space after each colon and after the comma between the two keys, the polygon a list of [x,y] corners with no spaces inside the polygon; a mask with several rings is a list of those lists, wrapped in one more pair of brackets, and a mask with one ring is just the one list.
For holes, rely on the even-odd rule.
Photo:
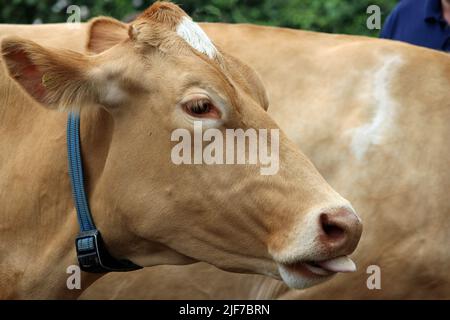
{"label": "wavy white patch on the flank of the cow behind", "polygon": [[373,79],[374,115],[372,120],[351,130],[353,136],[351,148],[358,160],[362,160],[372,145],[380,145],[384,134],[394,123],[396,103],[390,95],[392,77],[401,63],[399,56],[391,56],[384,60]]}

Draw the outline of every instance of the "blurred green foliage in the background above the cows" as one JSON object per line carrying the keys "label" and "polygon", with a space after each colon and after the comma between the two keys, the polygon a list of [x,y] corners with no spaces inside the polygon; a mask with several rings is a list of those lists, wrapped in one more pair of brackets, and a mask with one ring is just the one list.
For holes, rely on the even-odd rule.
{"label": "blurred green foliage in the background above the cows", "polygon": [[[83,21],[98,15],[126,19],[152,0],[0,0],[0,23],[65,22],[70,5]],[[382,9],[383,21],[397,0],[178,0],[197,21],[256,23],[332,33],[377,36],[366,27],[367,7]]]}

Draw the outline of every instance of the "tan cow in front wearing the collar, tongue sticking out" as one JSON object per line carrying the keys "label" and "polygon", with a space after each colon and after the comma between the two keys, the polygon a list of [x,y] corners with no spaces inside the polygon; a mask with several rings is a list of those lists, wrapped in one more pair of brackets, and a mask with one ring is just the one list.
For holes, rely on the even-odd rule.
{"label": "tan cow in front wearing the collar, tongue sticking out", "polygon": [[[69,290],[78,222],[67,111],[81,114],[86,190],[112,256],[142,267],[204,261],[295,288],[355,270],[360,218],[268,116],[250,67],[171,3],[108,39],[105,26],[88,30],[89,55],[2,39],[1,298],[76,298],[104,275],[83,272],[82,289]],[[195,136],[197,125],[277,132],[266,140],[278,145],[277,172],[175,163],[174,132]]]}

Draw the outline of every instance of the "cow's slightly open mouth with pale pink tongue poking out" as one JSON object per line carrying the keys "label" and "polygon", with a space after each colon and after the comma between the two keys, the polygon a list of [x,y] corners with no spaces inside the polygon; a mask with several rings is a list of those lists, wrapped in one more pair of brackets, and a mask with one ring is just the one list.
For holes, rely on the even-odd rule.
{"label": "cow's slightly open mouth with pale pink tongue poking out", "polygon": [[299,261],[279,264],[283,280],[295,288],[323,282],[337,273],[355,272],[355,263],[347,256],[322,261]]}

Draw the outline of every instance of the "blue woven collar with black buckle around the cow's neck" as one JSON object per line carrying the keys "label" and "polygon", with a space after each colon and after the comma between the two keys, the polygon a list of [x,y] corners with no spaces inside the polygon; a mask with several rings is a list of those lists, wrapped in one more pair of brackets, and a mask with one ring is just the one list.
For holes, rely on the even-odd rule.
{"label": "blue woven collar with black buckle around the cow's neck", "polygon": [[95,227],[84,187],[83,159],[80,143],[80,116],[69,113],[67,120],[67,157],[73,200],[80,233],[75,240],[81,270],[92,273],[124,272],[142,269],[129,260],[112,257]]}

